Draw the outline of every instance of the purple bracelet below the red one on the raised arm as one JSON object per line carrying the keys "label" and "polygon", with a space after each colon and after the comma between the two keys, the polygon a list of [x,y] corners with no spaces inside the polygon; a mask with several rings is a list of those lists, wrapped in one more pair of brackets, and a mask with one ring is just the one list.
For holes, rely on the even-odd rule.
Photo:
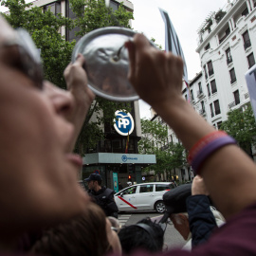
{"label": "purple bracelet below the red one on the raised arm", "polygon": [[214,151],[229,145],[229,144],[236,144],[236,140],[233,137],[218,137],[207,144],[202,150],[196,154],[192,159],[192,170],[199,174],[199,168],[202,163],[206,160],[207,157],[210,156]]}

